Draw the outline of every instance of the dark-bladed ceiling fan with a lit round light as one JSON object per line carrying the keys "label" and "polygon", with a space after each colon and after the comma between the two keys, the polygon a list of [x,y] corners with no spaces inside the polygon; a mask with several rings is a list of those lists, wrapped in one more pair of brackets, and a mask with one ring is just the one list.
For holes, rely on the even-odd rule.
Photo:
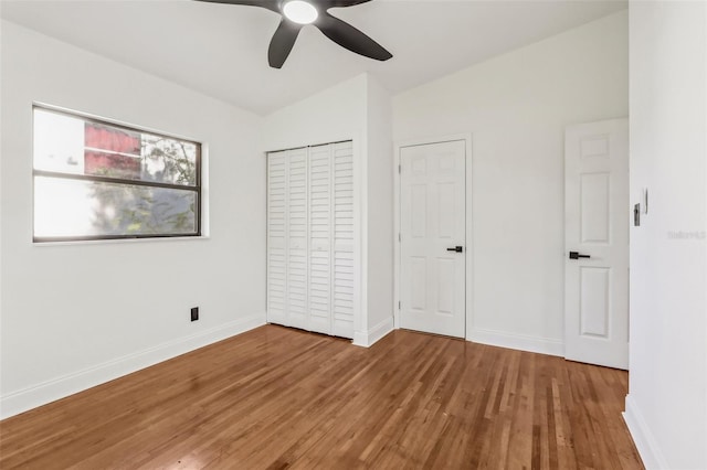
{"label": "dark-bladed ceiling fan with a lit round light", "polygon": [[281,68],[292,47],[295,45],[299,30],[306,24],[314,24],[335,43],[351,52],[388,61],[392,54],[376,41],[351,26],[349,23],[329,14],[330,8],[354,7],[370,0],[197,0],[211,3],[245,4],[261,7],[281,14],[279,26],[273,34],[267,50],[267,62],[273,68]]}

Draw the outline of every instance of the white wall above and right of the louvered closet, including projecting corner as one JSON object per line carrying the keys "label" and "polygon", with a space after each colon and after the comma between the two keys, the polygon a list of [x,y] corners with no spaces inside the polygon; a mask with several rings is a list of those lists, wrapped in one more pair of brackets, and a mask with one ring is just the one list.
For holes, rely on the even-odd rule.
{"label": "white wall above and right of the louvered closet, including projecting corner", "polygon": [[358,258],[354,343],[392,329],[392,150],[390,96],[368,74],[265,117],[261,147],[279,150],[354,140]]}

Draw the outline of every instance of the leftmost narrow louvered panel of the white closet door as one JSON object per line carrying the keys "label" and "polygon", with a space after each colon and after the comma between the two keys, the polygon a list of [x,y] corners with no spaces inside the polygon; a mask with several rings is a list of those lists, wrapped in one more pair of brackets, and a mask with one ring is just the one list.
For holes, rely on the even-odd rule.
{"label": "leftmost narrow louvered panel of the white closet door", "polygon": [[267,156],[267,321],[287,317],[287,152]]}

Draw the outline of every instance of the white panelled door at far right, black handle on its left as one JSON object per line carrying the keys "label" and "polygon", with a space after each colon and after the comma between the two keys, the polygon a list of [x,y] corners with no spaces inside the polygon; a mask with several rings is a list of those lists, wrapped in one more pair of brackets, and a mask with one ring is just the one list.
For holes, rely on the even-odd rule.
{"label": "white panelled door at far right, black handle on its left", "polygon": [[564,357],[629,368],[629,122],[564,132]]}

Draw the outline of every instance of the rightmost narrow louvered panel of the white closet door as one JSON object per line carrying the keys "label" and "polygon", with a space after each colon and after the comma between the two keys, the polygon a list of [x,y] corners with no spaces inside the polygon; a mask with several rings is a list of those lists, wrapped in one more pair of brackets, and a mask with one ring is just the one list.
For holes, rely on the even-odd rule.
{"label": "rightmost narrow louvered panel of the white closet door", "polygon": [[354,147],[350,141],[333,145],[333,331],[354,338]]}

